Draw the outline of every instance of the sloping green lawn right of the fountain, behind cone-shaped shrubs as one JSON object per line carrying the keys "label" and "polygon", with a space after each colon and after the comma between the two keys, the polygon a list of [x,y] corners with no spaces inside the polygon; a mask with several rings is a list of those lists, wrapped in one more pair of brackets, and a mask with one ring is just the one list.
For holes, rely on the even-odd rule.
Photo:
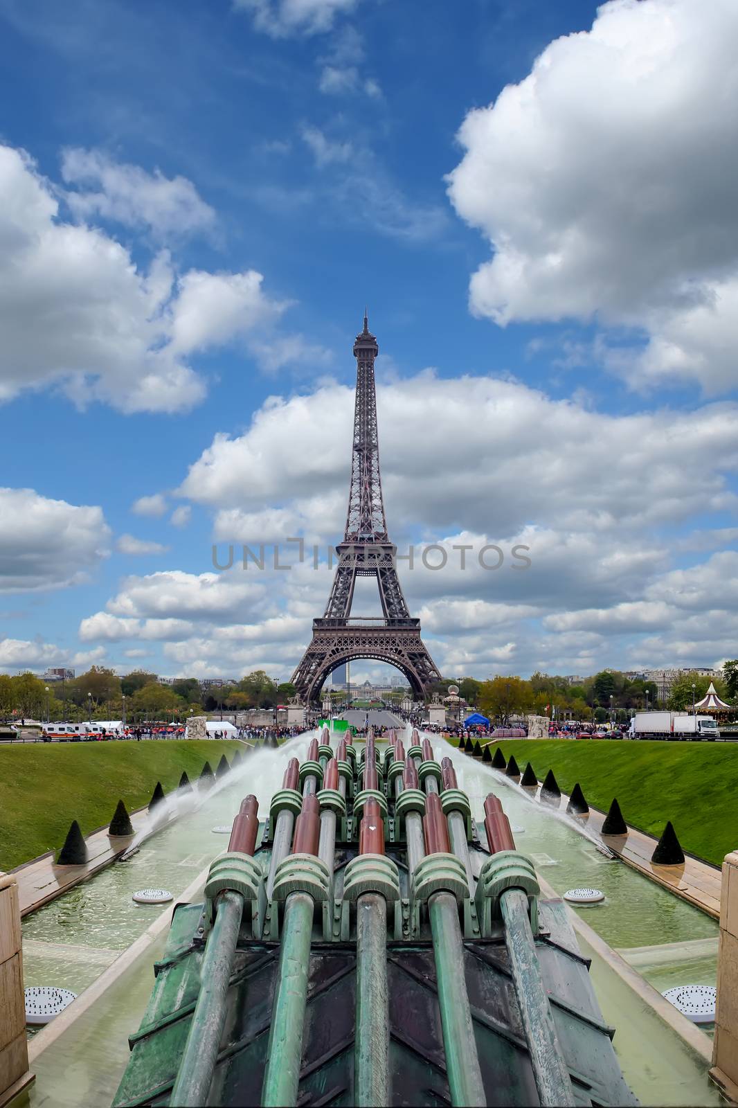
{"label": "sloping green lawn right of the fountain, behind cone-shaped shrubs", "polygon": [[540,781],[580,782],[587,803],[606,812],[617,797],[627,823],[660,835],[672,820],[684,850],[720,865],[738,849],[738,743],[501,739],[505,759],[531,762]]}

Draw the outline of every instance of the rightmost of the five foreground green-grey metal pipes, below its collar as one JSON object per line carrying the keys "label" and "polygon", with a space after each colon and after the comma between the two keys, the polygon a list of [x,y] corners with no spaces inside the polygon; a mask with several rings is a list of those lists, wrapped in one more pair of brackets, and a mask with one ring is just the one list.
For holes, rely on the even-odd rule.
{"label": "rightmost of the five foreground green-grey metal pipes, below its collar", "polygon": [[541,977],[527,916],[527,896],[520,889],[508,889],[500,897],[500,907],[505,924],[510,970],[541,1104],[568,1108],[576,1101]]}

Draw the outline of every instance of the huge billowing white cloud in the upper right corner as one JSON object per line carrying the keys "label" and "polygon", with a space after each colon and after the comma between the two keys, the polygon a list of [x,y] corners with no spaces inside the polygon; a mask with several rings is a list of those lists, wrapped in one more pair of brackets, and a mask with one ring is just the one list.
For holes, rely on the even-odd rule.
{"label": "huge billowing white cloud in the upper right corner", "polygon": [[468,114],[449,194],[494,249],[475,314],[597,317],[645,334],[607,360],[633,383],[736,383],[737,34],[731,0],[612,0]]}

